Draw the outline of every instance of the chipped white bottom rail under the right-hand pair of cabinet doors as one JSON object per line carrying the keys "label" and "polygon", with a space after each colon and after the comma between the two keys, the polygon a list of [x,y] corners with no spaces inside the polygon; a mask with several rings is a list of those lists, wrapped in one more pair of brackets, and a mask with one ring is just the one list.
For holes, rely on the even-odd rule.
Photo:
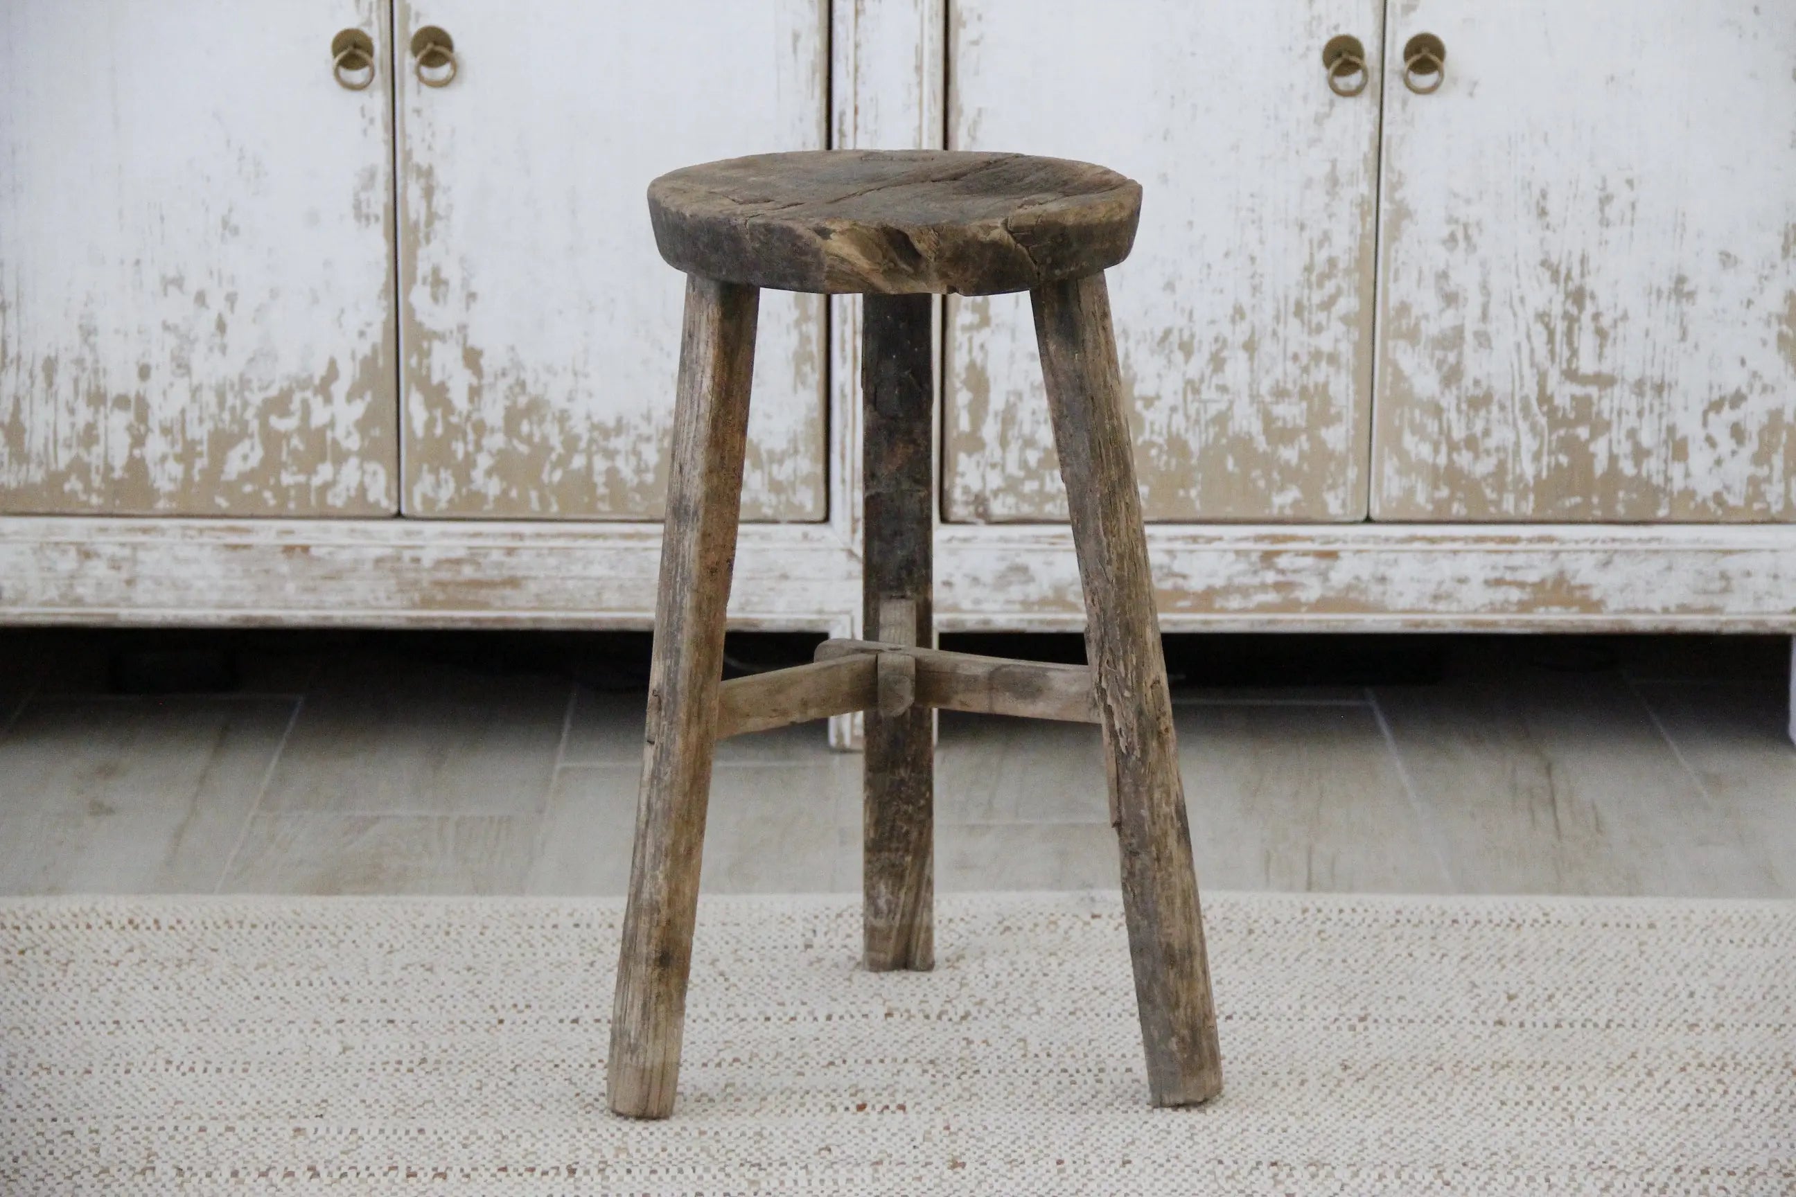
{"label": "chipped white bottom rail under the right-hand pair of cabinet doors", "polygon": [[[945,526],[948,628],[1085,625],[1052,526]],[[1796,630],[1796,529],[1263,524],[1148,529],[1167,632]]]}

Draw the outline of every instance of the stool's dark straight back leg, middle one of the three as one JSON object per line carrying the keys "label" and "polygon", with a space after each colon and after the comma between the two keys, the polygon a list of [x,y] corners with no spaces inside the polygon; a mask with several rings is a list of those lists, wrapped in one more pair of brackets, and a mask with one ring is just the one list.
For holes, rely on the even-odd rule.
{"label": "stool's dark straight back leg, middle one of the three", "polygon": [[[867,635],[932,644],[934,296],[869,294],[862,310],[862,601]],[[864,960],[871,971],[936,962],[936,747],[923,705],[866,712]]]}

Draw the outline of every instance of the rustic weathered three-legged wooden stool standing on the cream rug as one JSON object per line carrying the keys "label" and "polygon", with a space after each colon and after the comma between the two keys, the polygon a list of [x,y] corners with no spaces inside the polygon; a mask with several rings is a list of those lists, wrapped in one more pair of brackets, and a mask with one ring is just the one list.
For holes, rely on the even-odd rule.
{"label": "rustic weathered three-legged wooden stool standing on the cream rug", "polygon": [[[611,1021],[611,1107],[665,1118],[679,1077],[715,743],[866,711],[866,965],[934,958],[930,707],[1101,723],[1155,1105],[1221,1089],[1148,538],[1103,271],[1140,187],[1058,158],[801,153],[648,187],[686,271],[643,788]],[[866,628],[794,669],[718,682],[760,287],[866,296]],[[1087,666],[936,651],[930,296],[1029,291],[1085,583]]]}

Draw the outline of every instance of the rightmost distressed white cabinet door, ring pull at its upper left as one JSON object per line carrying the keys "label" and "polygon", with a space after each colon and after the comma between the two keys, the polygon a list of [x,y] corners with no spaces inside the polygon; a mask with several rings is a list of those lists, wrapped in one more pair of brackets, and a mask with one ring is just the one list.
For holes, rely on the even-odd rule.
{"label": "rightmost distressed white cabinet door, ring pull at its upper left", "polygon": [[1394,0],[1385,54],[1374,513],[1789,520],[1796,4]]}

